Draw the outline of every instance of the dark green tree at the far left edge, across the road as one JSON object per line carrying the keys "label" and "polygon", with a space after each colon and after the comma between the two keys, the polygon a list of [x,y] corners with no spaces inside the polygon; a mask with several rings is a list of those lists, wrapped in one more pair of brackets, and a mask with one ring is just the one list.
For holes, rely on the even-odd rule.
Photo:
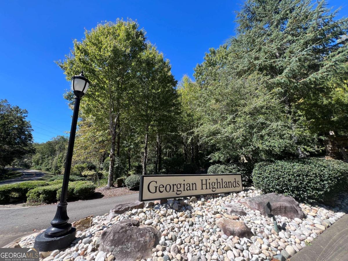
{"label": "dark green tree at the far left edge, across the road", "polygon": [[34,152],[32,127],[27,111],[0,100],[0,167]]}

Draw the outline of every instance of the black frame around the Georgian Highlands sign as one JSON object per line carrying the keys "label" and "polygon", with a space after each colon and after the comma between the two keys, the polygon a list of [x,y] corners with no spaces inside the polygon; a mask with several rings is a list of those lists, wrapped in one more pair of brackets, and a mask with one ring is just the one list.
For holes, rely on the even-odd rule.
{"label": "black frame around the Georgian Highlands sign", "polygon": [[[220,173],[220,174],[173,174],[173,175],[141,175],[140,176],[140,185],[139,185],[139,201],[140,202],[145,202],[145,201],[151,201],[151,200],[160,200],[160,199],[168,199],[171,197],[164,197],[164,198],[152,198],[152,199],[146,199],[145,201],[143,200],[143,182],[144,182],[144,177],[145,176],[149,176],[149,177],[163,177],[163,176],[168,176],[168,177],[180,177],[180,176],[200,176],[200,177],[204,177],[204,176],[226,176],[226,175],[233,175],[233,176],[240,176],[240,180],[242,180],[242,174],[238,174],[238,173]],[[243,181],[243,180],[242,180]],[[240,192],[243,191],[243,182],[242,184],[240,184],[241,190],[237,190],[237,191],[230,191],[230,192],[225,192],[225,193],[231,193],[231,192]],[[218,194],[222,194],[222,193],[207,193],[207,194],[193,194],[193,195],[188,195],[188,196],[180,196],[178,195],[177,197],[172,197],[172,198],[188,198],[188,197],[197,197],[197,196],[205,196],[205,195],[218,195]]]}

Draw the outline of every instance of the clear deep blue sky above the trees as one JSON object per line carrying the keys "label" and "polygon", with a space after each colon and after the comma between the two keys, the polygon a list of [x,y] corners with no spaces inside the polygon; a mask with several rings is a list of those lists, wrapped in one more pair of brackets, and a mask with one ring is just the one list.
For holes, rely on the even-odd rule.
{"label": "clear deep blue sky above the trees", "polygon": [[[63,98],[70,83],[54,63],[84,29],[117,18],[136,19],[148,40],[171,61],[177,80],[192,77],[204,53],[234,35],[238,1],[1,1],[0,99],[28,110],[35,142],[70,130]],[[348,15],[345,0],[329,0]]]}

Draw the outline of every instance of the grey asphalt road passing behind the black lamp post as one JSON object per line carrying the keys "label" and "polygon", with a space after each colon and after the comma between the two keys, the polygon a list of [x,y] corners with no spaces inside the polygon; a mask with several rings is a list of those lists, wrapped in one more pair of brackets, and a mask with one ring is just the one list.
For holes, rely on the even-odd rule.
{"label": "grey asphalt road passing behind the black lamp post", "polygon": [[[104,215],[119,203],[134,202],[139,193],[110,198],[74,201],[68,203],[69,222],[89,215]],[[56,213],[56,204],[20,208],[0,208],[0,247],[23,237],[33,229],[41,230],[50,226]]]}

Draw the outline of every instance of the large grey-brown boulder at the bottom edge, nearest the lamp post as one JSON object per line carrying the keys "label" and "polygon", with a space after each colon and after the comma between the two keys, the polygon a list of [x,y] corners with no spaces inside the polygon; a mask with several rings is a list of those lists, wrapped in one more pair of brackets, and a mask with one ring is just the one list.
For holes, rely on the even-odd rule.
{"label": "large grey-brown boulder at the bottom edge, nearest the lamp post", "polygon": [[115,261],[146,260],[160,237],[154,227],[139,227],[139,221],[124,219],[102,232],[98,250],[112,253]]}

